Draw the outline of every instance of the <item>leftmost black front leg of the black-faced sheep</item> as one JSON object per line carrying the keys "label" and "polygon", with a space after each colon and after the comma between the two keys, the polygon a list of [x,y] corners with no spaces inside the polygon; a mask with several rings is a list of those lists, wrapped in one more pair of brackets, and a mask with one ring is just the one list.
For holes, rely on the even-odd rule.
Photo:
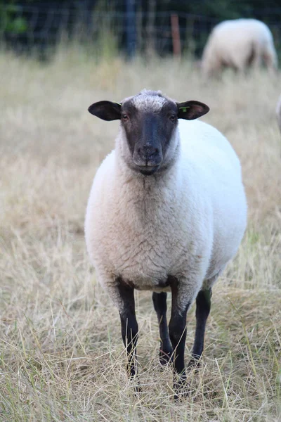
{"label": "leftmost black front leg of the black-faced sheep", "polygon": [[127,371],[132,378],[136,374],[136,343],[138,341],[138,323],[135,313],[135,299],[133,297],[133,288],[119,280],[118,290],[122,306],[119,314],[121,319],[121,330],[124,345],[128,355]]}

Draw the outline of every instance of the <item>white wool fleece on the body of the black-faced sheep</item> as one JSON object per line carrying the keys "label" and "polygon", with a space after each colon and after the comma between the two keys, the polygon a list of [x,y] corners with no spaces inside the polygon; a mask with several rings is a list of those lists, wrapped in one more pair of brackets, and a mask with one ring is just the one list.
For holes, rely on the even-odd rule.
{"label": "white wool fleece on the body of the black-faced sheep", "polygon": [[179,120],[171,140],[176,161],[143,176],[124,161],[122,127],[100,165],[86,210],[85,234],[98,281],[117,307],[116,279],[139,290],[169,290],[174,276],[186,302],[211,287],[233,258],[247,219],[240,162],[209,124]]}

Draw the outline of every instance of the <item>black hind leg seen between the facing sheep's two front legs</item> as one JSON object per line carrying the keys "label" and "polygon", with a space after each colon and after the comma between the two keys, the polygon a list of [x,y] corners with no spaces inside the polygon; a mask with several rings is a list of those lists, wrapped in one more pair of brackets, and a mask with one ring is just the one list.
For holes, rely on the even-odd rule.
{"label": "black hind leg seen between the facing sheep's two front legs", "polygon": [[160,333],[160,364],[165,365],[170,362],[173,349],[169,338],[168,325],[166,321],[166,293],[152,293],[154,309],[157,313]]}

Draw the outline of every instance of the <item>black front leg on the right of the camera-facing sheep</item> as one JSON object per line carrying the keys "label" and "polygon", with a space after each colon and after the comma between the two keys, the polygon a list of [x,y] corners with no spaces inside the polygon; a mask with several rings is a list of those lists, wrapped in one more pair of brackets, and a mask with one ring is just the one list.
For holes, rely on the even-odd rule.
{"label": "black front leg on the right of the camera-facing sheep", "polygon": [[[186,338],[186,313],[190,307],[187,302],[183,305],[184,292],[179,289],[180,284],[176,279],[171,282],[171,319],[169,322],[169,335],[171,345],[174,349],[174,370],[176,373],[176,380],[174,382],[174,389],[176,392],[185,384],[185,338]],[[181,306],[180,306],[181,304]],[[177,375],[180,376],[179,381]]]}

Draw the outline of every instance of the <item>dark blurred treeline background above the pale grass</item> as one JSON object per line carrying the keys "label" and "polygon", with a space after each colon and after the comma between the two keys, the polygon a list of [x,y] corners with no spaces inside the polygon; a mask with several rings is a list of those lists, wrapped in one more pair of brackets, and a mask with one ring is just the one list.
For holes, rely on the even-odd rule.
{"label": "dark blurred treeline background above the pale grass", "polygon": [[127,56],[164,56],[173,52],[172,14],[181,53],[200,57],[211,28],[235,18],[263,20],[281,49],[281,0],[0,0],[0,37],[8,48],[37,50],[42,58],[62,39],[98,49],[101,38]]}

